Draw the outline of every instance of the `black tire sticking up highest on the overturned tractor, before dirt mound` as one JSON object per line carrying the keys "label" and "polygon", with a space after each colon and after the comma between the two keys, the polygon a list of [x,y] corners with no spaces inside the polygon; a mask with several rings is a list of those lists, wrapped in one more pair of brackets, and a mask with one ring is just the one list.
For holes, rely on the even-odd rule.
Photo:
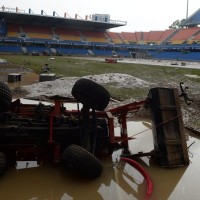
{"label": "black tire sticking up highest on the overturned tractor, before dirt mound", "polygon": [[71,93],[78,102],[98,111],[104,110],[110,101],[109,92],[90,79],[81,78],[76,81]]}

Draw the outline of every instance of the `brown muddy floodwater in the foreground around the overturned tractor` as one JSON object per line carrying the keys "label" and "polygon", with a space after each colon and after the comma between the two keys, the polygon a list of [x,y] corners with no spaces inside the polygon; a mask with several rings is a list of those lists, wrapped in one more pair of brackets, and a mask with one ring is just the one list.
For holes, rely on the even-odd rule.
{"label": "brown muddy floodwater in the foreground around the overturned tractor", "polygon": [[[144,132],[143,132],[144,131]],[[116,128],[116,134],[119,129]],[[141,133],[140,133],[141,132]],[[133,153],[153,149],[152,132],[142,122],[129,122],[128,133],[135,136],[130,144]],[[193,143],[194,142],[194,143]],[[188,146],[190,164],[177,168],[161,168],[148,157],[137,160],[149,173],[154,184],[153,193],[146,194],[144,177],[128,164],[119,162],[121,151],[101,159],[104,170],[95,180],[87,180],[60,166],[37,166],[18,163],[0,178],[2,200],[197,200],[200,197],[200,140],[191,135]]]}

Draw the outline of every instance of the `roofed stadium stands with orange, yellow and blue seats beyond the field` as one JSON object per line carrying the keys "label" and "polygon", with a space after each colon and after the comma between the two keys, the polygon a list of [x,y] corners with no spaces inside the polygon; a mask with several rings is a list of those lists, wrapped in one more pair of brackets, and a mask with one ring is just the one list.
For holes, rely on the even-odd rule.
{"label": "roofed stadium stands with orange, yellow and blue seats beyond the field", "polygon": [[0,53],[200,60],[200,9],[181,28],[112,32],[123,23],[0,11]]}

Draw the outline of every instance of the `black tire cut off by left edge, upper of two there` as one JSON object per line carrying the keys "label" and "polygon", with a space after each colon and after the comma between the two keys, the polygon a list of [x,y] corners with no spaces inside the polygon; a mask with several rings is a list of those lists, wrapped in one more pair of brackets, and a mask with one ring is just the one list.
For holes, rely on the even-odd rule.
{"label": "black tire cut off by left edge, upper of two there", "polygon": [[0,112],[5,112],[9,109],[12,103],[12,92],[9,87],[0,82]]}

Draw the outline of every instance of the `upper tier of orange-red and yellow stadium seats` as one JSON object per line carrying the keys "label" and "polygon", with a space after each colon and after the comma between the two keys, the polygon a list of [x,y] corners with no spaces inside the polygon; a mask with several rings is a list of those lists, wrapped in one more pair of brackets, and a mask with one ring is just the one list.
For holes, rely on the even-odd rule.
{"label": "upper tier of orange-red and yellow stadium seats", "polygon": [[192,44],[200,40],[200,27],[149,32],[111,32],[8,25],[7,37],[57,39],[113,44]]}

